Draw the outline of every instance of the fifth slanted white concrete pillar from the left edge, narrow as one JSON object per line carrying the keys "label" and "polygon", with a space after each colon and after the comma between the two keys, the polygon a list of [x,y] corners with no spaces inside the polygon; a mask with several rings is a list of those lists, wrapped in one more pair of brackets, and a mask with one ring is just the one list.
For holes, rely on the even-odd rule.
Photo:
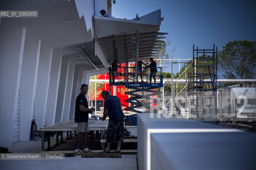
{"label": "fifth slanted white concrete pillar from the left edge, narrow", "polygon": [[64,93],[66,89],[66,78],[67,78],[67,71],[68,71],[68,57],[63,56],[61,61],[61,71],[60,71],[60,82],[59,82],[59,89],[58,89],[58,98],[57,98],[57,107],[56,107],[56,114],[55,114],[55,124],[60,123],[62,120],[62,106],[64,103]]}

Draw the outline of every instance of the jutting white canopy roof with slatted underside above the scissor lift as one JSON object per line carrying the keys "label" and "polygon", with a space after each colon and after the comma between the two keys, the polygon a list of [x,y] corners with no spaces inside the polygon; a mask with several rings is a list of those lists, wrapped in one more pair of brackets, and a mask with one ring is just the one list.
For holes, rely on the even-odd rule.
{"label": "jutting white canopy roof with slatted underside above the scissor lift", "polygon": [[[159,37],[167,33],[158,32],[161,25],[161,10],[151,12],[138,19],[126,20],[94,16],[94,35],[109,63],[113,62],[116,51],[118,63],[135,61],[137,54],[137,31],[139,60],[154,57],[159,49]],[[114,46],[113,46],[114,45]]]}

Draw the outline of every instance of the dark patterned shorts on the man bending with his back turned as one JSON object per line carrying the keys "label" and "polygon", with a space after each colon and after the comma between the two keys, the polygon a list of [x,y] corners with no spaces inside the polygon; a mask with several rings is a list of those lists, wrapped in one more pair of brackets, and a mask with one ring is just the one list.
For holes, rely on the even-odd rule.
{"label": "dark patterned shorts on the man bending with his back turned", "polygon": [[124,117],[119,117],[108,121],[106,140],[108,143],[123,142]]}

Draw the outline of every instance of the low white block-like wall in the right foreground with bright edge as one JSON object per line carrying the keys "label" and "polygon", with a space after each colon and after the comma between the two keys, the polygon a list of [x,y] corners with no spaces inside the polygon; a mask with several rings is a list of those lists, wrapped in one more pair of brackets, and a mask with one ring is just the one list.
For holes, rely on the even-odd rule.
{"label": "low white block-like wall in the right foreground with bright edge", "polygon": [[256,133],[166,117],[138,114],[139,170],[255,167]]}

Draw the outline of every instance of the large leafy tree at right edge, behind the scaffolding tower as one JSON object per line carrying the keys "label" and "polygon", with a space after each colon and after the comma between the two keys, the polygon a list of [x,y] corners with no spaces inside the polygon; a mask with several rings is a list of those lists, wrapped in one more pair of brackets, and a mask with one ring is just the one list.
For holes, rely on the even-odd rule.
{"label": "large leafy tree at right edge, behind the scaffolding tower", "polygon": [[226,79],[256,78],[256,41],[228,42],[218,54]]}

